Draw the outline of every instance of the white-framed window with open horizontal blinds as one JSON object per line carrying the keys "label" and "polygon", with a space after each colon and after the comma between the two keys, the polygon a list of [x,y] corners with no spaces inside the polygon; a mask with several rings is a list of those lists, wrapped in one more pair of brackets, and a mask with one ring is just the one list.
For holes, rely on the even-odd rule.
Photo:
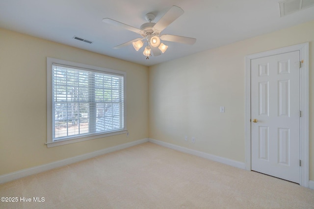
{"label": "white-framed window with open horizontal blinds", "polygon": [[47,146],[126,133],[126,73],[47,58]]}

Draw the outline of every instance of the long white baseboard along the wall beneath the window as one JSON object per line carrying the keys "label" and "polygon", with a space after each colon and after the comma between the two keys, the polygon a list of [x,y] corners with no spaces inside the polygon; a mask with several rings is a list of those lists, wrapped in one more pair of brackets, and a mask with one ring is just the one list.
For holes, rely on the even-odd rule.
{"label": "long white baseboard along the wall beneath the window", "polygon": [[44,164],[44,165],[39,165],[36,167],[31,167],[31,168],[27,168],[24,170],[20,170],[20,171],[16,171],[13,173],[9,173],[9,174],[4,174],[0,176],[0,184],[3,184],[5,182],[10,182],[16,179],[20,179],[22,177],[26,177],[29,175],[33,175],[36,173],[40,173],[43,171],[47,171],[47,170],[51,170],[53,168],[57,168],[57,167],[61,167],[64,165],[68,165],[68,164],[72,164],[72,163],[77,163],[79,161],[83,161],[83,160],[87,160],[90,158],[94,158],[96,156],[100,156],[100,155],[104,155],[106,153],[110,153],[110,152],[114,152],[120,149],[125,149],[131,146],[135,146],[144,142],[148,142],[149,139],[141,139],[141,140],[137,140],[137,141],[132,141],[129,143],[125,143],[125,144],[121,144],[121,145],[117,145],[114,147],[109,147],[103,150],[99,150],[96,152],[91,152],[91,153],[87,153],[87,154],[83,154],[83,155],[79,155],[73,158],[68,158],[68,159],[64,159],[62,161],[56,161],[53,163],[48,163],[48,164]]}

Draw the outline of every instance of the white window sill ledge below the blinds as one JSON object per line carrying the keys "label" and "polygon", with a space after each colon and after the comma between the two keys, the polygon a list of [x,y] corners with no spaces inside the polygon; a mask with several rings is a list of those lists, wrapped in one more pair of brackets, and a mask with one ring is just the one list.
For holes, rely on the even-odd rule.
{"label": "white window sill ledge below the blinds", "polygon": [[99,139],[99,138],[104,138],[104,137],[110,137],[114,135],[119,135],[119,134],[126,134],[128,130],[120,130],[120,131],[114,131],[114,132],[109,132],[105,134],[98,134],[98,135],[93,135],[93,136],[88,136],[88,137],[80,137],[80,138],[75,138],[75,139],[61,139],[61,140],[56,140],[52,142],[47,142],[47,148],[50,147],[55,147],[55,146],[60,146],[60,145],[65,145],[65,144],[71,144],[71,143],[76,143],[80,141],[86,141],[86,140],[91,140],[91,139]]}

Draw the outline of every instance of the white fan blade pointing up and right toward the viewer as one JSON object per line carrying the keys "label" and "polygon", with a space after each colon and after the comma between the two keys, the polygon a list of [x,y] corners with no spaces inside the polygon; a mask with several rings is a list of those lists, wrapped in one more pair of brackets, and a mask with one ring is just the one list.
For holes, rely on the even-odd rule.
{"label": "white fan blade pointing up and right toward the viewer", "polygon": [[172,6],[164,16],[154,25],[153,29],[162,31],[165,29],[169,24],[177,20],[182,14],[184,13],[183,9],[178,6]]}

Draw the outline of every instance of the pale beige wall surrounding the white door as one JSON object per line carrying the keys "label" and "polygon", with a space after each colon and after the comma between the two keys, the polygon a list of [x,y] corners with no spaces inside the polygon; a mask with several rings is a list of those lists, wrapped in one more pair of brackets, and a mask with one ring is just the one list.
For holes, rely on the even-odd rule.
{"label": "pale beige wall surrounding the white door", "polygon": [[[150,67],[149,137],[244,163],[245,56],[304,42],[310,42],[309,149],[314,180],[314,22]],[[220,106],[225,106],[225,113],[219,112]]]}

